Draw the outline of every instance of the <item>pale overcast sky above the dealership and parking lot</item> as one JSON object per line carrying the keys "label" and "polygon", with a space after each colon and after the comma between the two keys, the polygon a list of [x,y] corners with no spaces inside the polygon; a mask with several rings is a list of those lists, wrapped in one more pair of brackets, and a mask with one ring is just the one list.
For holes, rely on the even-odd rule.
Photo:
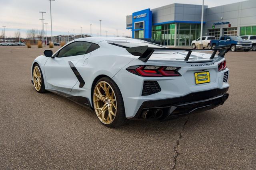
{"label": "pale overcast sky above the dealership and parking lot", "polygon": [[[205,0],[208,7],[220,6],[245,0]],[[52,29],[53,35],[67,34],[92,34],[100,32],[102,20],[102,35],[130,36],[126,30],[126,16],[133,12],[147,8],[184,3],[202,4],[202,0],[55,0],[52,1]],[[0,0],[0,28],[6,26],[6,37],[14,37],[14,32],[21,29],[21,36],[26,37],[26,29],[42,29],[39,11],[45,11],[44,21],[47,25],[47,35],[50,35],[50,2],[48,0]]]}

